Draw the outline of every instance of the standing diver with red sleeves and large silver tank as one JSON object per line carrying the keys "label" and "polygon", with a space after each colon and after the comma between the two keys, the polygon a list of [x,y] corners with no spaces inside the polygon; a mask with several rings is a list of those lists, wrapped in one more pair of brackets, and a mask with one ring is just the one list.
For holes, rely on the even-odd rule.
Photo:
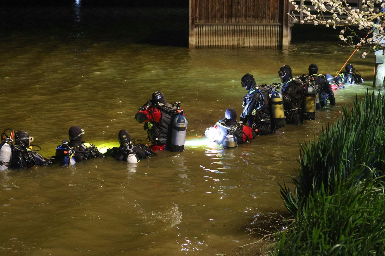
{"label": "standing diver with red sleeves and large silver tank", "polygon": [[156,91],[151,100],[139,108],[135,115],[138,123],[144,123],[152,151],[183,151],[186,140],[187,119],[180,102],[167,103],[163,93]]}

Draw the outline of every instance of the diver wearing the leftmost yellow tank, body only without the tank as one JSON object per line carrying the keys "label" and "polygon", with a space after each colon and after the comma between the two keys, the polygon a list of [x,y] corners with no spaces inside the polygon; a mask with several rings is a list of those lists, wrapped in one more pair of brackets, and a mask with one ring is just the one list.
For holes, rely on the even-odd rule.
{"label": "diver wearing the leftmost yellow tank, body only without the tank", "polygon": [[257,85],[251,74],[242,77],[241,85],[248,91],[243,97],[241,123],[248,122],[257,135],[274,133],[275,126],[271,122],[271,109],[268,104],[270,88],[267,85]]}

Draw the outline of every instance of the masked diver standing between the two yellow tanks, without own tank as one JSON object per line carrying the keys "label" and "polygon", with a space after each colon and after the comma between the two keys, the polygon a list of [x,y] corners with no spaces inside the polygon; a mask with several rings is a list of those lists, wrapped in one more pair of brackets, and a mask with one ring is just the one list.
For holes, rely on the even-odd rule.
{"label": "masked diver standing between the two yellow tanks, without own tank", "polygon": [[297,125],[303,122],[303,83],[293,78],[291,68],[283,65],[278,71],[282,81],[281,93],[283,95],[283,107],[285,108],[286,123]]}

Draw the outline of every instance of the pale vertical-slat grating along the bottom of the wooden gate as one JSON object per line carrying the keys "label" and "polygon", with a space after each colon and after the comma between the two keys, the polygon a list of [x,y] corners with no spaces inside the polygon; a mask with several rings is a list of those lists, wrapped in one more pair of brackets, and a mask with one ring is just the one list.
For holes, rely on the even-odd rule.
{"label": "pale vertical-slat grating along the bottom of the wooden gate", "polygon": [[195,48],[280,48],[281,25],[196,24]]}

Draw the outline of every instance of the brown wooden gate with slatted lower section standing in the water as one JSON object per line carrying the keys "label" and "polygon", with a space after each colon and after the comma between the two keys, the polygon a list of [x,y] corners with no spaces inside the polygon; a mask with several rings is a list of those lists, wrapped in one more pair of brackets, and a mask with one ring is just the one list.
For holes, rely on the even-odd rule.
{"label": "brown wooden gate with slatted lower section standing in the water", "polygon": [[189,48],[281,48],[288,7],[288,0],[190,0]]}

